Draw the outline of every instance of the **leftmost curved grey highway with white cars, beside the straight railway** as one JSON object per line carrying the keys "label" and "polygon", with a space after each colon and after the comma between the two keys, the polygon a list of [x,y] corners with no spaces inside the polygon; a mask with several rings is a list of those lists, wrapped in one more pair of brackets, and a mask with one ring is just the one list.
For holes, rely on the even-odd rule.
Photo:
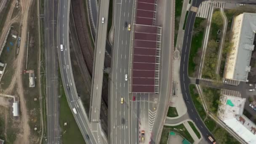
{"label": "leftmost curved grey highway with white cars, beside the straight railway", "polygon": [[[57,43],[59,67],[61,72],[61,79],[64,85],[64,91],[67,96],[67,101],[70,109],[77,109],[77,115],[74,113],[75,120],[87,144],[97,144],[90,129],[88,117],[85,113],[82,101],[77,96],[75,82],[72,74],[72,67],[69,53],[69,8],[70,0],[60,0],[58,11],[58,29],[57,29]],[[64,51],[60,51],[60,45],[63,44]],[[73,112],[73,111],[72,111]]]}

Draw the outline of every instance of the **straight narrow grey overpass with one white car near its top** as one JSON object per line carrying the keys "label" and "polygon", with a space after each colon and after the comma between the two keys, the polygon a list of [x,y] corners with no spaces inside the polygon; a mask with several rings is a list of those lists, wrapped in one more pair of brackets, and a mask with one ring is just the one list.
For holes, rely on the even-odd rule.
{"label": "straight narrow grey overpass with one white car near its top", "polygon": [[[90,108],[90,121],[99,122],[100,107],[101,107],[101,92],[103,81],[103,69],[104,69],[104,56],[105,45],[107,37],[107,18],[108,18],[108,5],[109,0],[99,1],[99,23],[97,24],[96,44],[94,49],[94,61],[93,61],[93,76],[91,87],[91,108]],[[102,18],[104,22],[102,23]]]}

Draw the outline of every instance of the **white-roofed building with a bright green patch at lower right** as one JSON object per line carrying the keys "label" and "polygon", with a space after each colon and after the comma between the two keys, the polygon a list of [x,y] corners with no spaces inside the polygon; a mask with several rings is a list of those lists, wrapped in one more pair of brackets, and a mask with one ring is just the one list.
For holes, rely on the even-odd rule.
{"label": "white-roofed building with a bright green patch at lower right", "polygon": [[256,144],[256,125],[245,115],[245,98],[222,95],[218,117],[248,144]]}

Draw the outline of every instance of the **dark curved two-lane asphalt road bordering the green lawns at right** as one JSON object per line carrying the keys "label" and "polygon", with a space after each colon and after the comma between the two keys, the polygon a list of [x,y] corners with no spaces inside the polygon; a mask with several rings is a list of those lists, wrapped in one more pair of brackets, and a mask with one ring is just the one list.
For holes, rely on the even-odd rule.
{"label": "dark curved two-lane asphalt road bordering the green lawns at right", "polygon": [[[203,0],[194,0],[192,3],[192,6],[199,7],[202,1]],[[210,131],[208,131],[203,121],[201,120],[200,116],[198,115],[189,93],[190,80],[188,77],[188,61],[189,61],[189,49],[190,49],[190,44],[192,39],[192,30],[195,22],[195,17],[196,17],[196,13],[189,11],[189,14],[187,16],[186,28],[184,32],[184,39],[183,39],[183,45],[182,45],[182,51],[181,51],[180,82],[181,82],[181,91],[182,91],[183,98],[185,101],[186,100],[189,101],[189,103],[186,103],[187,113],[191,118],[191,120],[195,122],[195,124],[197,125],[197,128],[199,128],[203,137],[205,139],[208,139],[208,135],[212,136],[212,134]]]}

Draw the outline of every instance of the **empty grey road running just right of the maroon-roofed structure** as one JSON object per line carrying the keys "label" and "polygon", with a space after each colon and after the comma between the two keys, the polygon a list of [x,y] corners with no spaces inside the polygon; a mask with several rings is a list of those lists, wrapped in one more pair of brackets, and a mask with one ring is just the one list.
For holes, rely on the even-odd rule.
{"label": "empty grey road running just right of the maroon-roofed structure", "polygon": [[160,69],[160,89],[157,105],[155,123],[151,132],[151,144],[160,142],[161,131],[165,119],[165,108],[171,95],[172,83],[172,56],[173,56],[173,29],[174,29],[174,6],[172,0],[164,1],[163,29],[161,47],[161,69]]}

